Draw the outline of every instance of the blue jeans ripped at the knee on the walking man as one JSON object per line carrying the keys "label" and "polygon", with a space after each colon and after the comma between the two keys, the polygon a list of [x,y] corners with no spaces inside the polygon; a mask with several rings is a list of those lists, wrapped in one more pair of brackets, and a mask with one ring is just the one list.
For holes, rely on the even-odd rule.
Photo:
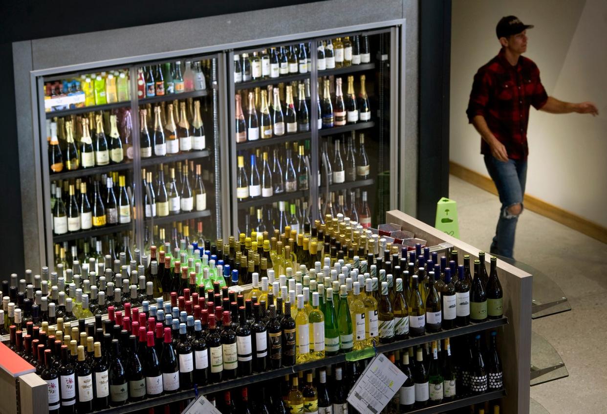
{"label": "blue jeans ripped at the knee on the walking man", "polygon": [[491,243],[492,254],[514,259],[514,234],[517,229],[518,215],[510,214],[508,208],[520,204],[523,207],[523,195],[527,180],[527,160],[500,161],[487,154],[485,165],[500,195],[500,219],[495,228]]}

